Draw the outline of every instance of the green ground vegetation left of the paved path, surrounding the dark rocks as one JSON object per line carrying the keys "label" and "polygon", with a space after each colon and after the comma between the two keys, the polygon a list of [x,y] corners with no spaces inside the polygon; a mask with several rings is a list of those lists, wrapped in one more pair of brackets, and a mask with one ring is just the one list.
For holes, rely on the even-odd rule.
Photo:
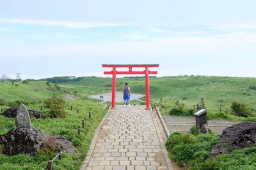
{"label": "green ground vegetation left of the paved path, surrounding the dark rocks", "polygon": [[[70,106],[74,107],[70,111]],[[39,110],[40,104],[29,104],[28,109]],[[76,109],[79,108],[79,113]],[[104,111],[101,104],[92,101],[67,101],[65,118],[31,118],[31,125],[42,132],[50,134],[60,134],[72,141],[76,146],[76,153],[70,155],[63,154],[63,160],[54,162],[54,169],[79,169],[86,153],[90,148],[94,131],[104,117]],[[44,109],[44,111],[47,111]],[[92,112],[92,120],[88,120],[88,112]],[[77,134],[77,126],[82,126],[82,120],[86,117],[86,125],[81,129],[81,134]],[[0,134],[5,134],[15,125],[14,118],[0,117]],[[49,159],[52,159],[56,153],[42,151],[38,156],[28,157],[26,155],[7,156],[0,154],[0,169],[42,169]]]}

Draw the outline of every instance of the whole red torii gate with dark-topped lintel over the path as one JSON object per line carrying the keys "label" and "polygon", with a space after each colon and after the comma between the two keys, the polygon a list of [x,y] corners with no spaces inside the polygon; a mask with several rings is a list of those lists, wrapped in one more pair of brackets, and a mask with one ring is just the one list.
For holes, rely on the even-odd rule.
{"label": "whole red torii gate with dark-topped lintel over the path", "polygon": [[[116,106],[116,74],[145,74],[146,106],[150,108],[149,74],[157,74],[157,71],[150,71],[149,67],[159,67],[159,64],[102,64],[102,67],[110,67],[112,71],[104,71],[104,74],[112,74],[112,108]],[[117,71],[118,67],[127,67],[129,71]],[[132,71],[133,67],[145,68],[144,71]]]}

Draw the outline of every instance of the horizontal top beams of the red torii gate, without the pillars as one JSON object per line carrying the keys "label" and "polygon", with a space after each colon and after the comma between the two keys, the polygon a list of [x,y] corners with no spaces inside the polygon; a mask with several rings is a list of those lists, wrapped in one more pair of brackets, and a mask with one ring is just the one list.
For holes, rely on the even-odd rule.
{"label": "horizontal top beams of the red torii gate, without the pillars", "polygon": [[[115,74],[157,74],[157,71],[149,71],[148,67],[159,67],[159,64],[102,64],[102,67],[110,67],[115,69]],[[118,67],[127,67],[129,71],[116,71]],[[132,71],[132,67],[145,67],[145,71]],[[113,71],[104,71],[104,74],[113,74]]]}

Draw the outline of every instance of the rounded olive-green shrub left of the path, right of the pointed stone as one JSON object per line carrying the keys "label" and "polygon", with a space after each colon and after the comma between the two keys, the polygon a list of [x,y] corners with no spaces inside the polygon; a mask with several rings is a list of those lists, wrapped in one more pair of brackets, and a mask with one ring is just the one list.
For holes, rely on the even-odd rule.
{"label": "rounded olive-green shrub left of the path, right of the pointed stone", "polygon": [[49,116],[51,118],[66,117],[65,100],[61,96],[51,97],[44,101],[45,108],[49,109]]}

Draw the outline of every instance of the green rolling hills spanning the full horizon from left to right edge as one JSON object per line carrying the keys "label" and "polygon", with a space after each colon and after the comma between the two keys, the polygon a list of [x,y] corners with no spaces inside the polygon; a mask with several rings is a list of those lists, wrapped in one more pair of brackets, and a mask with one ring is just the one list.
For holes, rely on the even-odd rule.
{"label": "green rolling hills spanning the full horizon from left to right edge", "polygon": [[[26,82],[1,82],[0,102],[3,101],[36,101],[51,96],[61,87],[62,94],[74,94],[84,97],[88,94],[102,94],[111,92],[112,78],[64,76],[46,78],[45,81],[29,80]],[[53,83],[47,83],[51,81]],[[132,92],[145,94],[144,77],[117,78],[116,90],[122,91],[127,81]],[[57,82],[58,85],[54,84]],[[49,85],[50,84],[50,85]],[[219,77],[219,76],[168,76],[150,77],[150,99],[159,103],[161,97],[164,102],[174,104],[176,101],[185,106],[193,107],[204,97],[205,105],[212,111],[219,107],[230,108],[233,101],[245,103],[256,110],[256,78]],[[132,97],[132,96],[131,96]],[[255,112],[255,111],[253,111]]]}

